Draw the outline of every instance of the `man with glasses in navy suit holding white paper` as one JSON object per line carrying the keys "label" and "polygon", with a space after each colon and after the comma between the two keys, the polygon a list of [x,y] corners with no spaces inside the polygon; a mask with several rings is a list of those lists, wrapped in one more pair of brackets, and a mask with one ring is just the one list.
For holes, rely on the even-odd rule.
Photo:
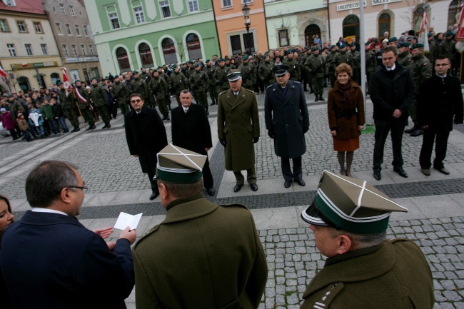
{"label": "man with glasses in navy suit holding white paper", "polygon": [[116,243],[89,231],[76,216],[85,181],[76,166],[44,161],[26,179],[31,211],[5,231],[0,265],[14,308],[126,308],[134,284],[131,244],[136,231]]}

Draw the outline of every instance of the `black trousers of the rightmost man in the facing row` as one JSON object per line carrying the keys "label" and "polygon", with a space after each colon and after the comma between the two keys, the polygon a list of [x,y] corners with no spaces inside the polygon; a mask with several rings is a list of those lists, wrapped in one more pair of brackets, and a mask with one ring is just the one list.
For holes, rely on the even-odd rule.
{"label": "black trousers of the rightmost man in the facing row", "polygon": [[420,148],[419,163],[421,168],[430,168],[430,166],[432,166],[430,160],[432,158],[435,136],[437,137],[437,142],[435,143],[435,159],[433,160],[433,167],[445,167],[443,166],[443,160],[445,160],[446,157],[446,148],[448,146],[450,131],[446,128],[430,128],[429,126],[424,130],[422,148]]}

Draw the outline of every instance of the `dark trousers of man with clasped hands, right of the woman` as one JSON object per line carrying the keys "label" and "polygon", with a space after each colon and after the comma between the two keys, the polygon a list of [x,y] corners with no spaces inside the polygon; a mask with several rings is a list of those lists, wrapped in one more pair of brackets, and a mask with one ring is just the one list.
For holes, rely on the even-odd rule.
{"label": "dark trousers of man with clasped hands, right of the woman", "polygon": [[403,155],[401,154],[401,143],[403,141],[403,131],[405,128],[405,119],[393,118],[390,120],[374,120],[375,123],[375,144],[374,144],[374,171],[382,170],[383,148],[388,132],[391,133],[391,143],[393,147],[393,168],[403,166]]}

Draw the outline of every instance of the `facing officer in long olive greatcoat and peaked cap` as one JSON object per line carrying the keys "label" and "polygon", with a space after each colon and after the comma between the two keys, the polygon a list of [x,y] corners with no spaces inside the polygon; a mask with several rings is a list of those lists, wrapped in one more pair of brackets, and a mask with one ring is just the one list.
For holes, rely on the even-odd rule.
{"label": "facing officer in long olive greatcoat and peaked cap", "polygon": [[230,89],[218,96],[218,137],[224,146],[226,170],[233,171],[236,186],[240,191],[245,178],[253,191],[258,191],[255,171],[255,148],[259,140],[258,103],[253,91],[242,87],[240,69],[232,70],[227,76]]}

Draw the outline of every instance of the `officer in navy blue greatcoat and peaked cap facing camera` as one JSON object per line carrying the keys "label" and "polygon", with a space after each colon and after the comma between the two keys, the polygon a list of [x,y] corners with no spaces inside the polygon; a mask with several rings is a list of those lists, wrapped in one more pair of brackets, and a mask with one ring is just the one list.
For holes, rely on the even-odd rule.
{"label": "officer in navy blue greatcoat and peaked cap facing camera", "polygon": [[[292,181],[306,186],[301,171],[301,156],[306,152],[304,133],[309,129],[309,113],[303,85],[291,81],[288,66],[281,64],[272,69],[276,83],[266,88],[264,118],[268,136],[274,138],[274,151],[281,157],[283,186],[289,188]],[[293,173],[290,168],[293,161]]]}

